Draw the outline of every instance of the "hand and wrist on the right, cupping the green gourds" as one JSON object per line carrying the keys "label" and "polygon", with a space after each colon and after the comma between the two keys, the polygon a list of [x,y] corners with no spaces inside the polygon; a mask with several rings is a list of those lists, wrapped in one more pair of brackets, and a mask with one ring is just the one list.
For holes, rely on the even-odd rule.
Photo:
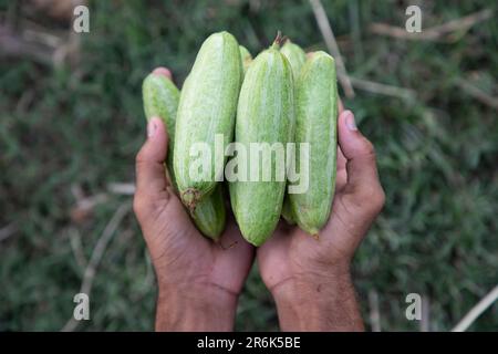
{"label": "hand and wrist on the right, cupping the green gourds", "polygon": [[280,222],[257,252],[282,330],[363,330],[350,262],[385,196],[372,144],[357,131],[353,114],[342,111],[335,196],[319,239]]}

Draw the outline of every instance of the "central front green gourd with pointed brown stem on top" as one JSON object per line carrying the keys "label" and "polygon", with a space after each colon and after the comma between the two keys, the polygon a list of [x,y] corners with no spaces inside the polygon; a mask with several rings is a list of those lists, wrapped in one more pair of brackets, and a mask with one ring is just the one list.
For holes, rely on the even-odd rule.
{"label": "central front green gourd with pointed brown stem on top", "polygon": [[[240,90],[237,107],[236,142],[250,150],[251,143],[291,140],[294,128],[292,71],[276,43],[261,52],[249,65]],[[248,158],[249,159],[249,158]],[[268,181],[231,181],[230,201],[243,238],[262,244],[280,219],[286,176],[277,178],[277,162],[271,158]],[[248,176],[251,175],[248,164]],[[248,178],[247,178],[248,179]]]}

